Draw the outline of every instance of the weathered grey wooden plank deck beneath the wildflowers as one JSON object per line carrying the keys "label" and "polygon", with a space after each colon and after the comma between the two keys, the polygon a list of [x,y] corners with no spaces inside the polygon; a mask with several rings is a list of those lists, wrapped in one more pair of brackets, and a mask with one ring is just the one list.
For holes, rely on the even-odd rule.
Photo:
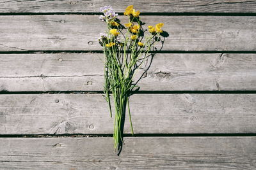
{"label": "weathered grey wooden plank deck beneath the wildflowers", "polygon": [[[130,4],[169,36],[117,156],[99,8]],[[1,0],[0,169],[256,169],[255,28],[252,0]]]}

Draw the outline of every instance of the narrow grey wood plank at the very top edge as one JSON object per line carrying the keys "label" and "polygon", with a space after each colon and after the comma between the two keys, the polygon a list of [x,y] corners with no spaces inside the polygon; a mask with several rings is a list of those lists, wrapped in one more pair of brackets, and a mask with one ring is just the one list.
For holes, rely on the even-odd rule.
{"label": "narrow grey wood plank at the very top edge", "polygon": [[132,1],[96,1],[96,0],[68,0],[68,1],[43,1],[43,0],[1,0],[0,12],[2,13],[44,13],[44,12],[99,12],[105,5],[113,6],[118,12],[123,12],[126,6],[134,4],[134,8],[142,12],[161,13],[255,13],[256,1],[252,0],[206,0],[206,1],[179,1],[163,0],[132,0]]}

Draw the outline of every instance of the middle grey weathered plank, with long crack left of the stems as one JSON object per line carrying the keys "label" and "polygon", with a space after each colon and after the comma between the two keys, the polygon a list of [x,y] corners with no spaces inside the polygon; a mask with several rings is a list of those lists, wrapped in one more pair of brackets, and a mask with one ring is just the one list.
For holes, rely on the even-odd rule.
{"label": "middle grey weathered plank, with long crack left of the stems", "polygon": [[[0,90],[103,90],[102,60],[102,53],[0,54]],[[139,85],[140,90],[256,90],[256,54],[157,53]]]}

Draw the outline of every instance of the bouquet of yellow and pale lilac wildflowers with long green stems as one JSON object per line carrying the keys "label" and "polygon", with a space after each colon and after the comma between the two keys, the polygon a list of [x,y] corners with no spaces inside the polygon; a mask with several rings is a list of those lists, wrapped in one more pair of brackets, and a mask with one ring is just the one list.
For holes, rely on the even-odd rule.
{"label": "bouquet of yellow and pale lilac wildflowers with long green stems", "polygon": [[[115,105],[115,122],[113,137],[115,140],[114,148],[123,143],[123,129],[125,111],[128,108],[131,132],[134,134],[131,121],[129,106],[129,96],[136,89],[134,75],[137,69],[148,57],[148,52],[154,43],[159,41],[159,36],[163,32],[163,23],[148,25],[148,30],[144,30],[140,20],[140,11],[134,10],[133,6],[125,9],[124,15],[127,16],[127,23],[122,25],[118,20],[118,14],[113,11],[111,6],[100,8],[104,15],[100,15],[100,20],[106,22],[106,32],[100,34],[99,43],[103,47],[105,54],[104,66],[104,94],[109,104],[110,115],[112,117],[110,96]],[[147,32],[148,31],[148,32]],[[147,36],[145,34],[147,33]]]}

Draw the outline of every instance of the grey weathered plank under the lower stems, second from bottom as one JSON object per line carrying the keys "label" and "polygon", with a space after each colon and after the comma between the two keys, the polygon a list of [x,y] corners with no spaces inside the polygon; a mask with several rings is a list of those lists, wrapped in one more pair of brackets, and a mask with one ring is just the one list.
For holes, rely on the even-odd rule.
{"label": "grey weathered plank under the lower stems, second from bottom", "polygon": [[[206,102],[207,101],[207,102]],[[0,96],[0,134],[111,134],[101,94]],[[135,94],[136,134],[255,133],[256,94]],[[130,133],[129,118],[125,133]]]}

